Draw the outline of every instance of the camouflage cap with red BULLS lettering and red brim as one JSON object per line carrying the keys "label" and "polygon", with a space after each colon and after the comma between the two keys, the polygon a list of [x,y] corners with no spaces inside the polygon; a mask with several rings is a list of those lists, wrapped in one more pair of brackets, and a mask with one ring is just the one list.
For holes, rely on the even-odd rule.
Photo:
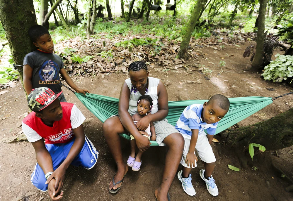
{"label": "camouflage cap with red BULLS lettering and red brim", "polygon": [[50,105],[61,93],[62,91],[56,94],[48,87],[35,88],[28,95],[28,107],[32,111],[38,112]]}

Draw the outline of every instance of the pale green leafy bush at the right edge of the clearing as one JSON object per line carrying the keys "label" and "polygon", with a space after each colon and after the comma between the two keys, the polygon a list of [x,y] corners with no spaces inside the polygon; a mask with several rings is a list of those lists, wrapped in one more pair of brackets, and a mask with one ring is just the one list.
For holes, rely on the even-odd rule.
{"label": "pale green leafy bush at the right edge of the clearing", "polygon": [[264,72],[261,74],[263,79],[282,82],[293,77],[293,56],[280,54],[275,56],[276,60],[270,61],[270,64],[265,66]]}

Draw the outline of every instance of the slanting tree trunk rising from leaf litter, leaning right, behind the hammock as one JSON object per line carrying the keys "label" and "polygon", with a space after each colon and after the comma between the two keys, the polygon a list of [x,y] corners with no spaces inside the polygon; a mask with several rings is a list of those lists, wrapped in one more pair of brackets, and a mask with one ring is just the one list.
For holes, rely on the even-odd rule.
{"label": "slanting tree trunk rising from leaf litter, leaning right, behind the hammock", "polygon": [[207,3],[207,0],[197,0],[197,3],[194,6],[193,13],[191,14],[186,33],[184,35],[183,41],[180,45],[180,50],[178,52],[178,57],[186,59],[187,57],[187,49],[189,46],[189,41],[191,38],[191,34],[194,30],[194,27],[196,23],[199,20],[199,15],[202,9],[204,9],[205,4]]}

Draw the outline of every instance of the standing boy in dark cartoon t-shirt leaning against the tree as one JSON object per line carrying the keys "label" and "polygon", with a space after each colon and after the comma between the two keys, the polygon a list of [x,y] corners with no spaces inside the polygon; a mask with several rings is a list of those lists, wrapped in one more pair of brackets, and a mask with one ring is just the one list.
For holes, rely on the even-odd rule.
{"label": "standing boy in dark cartoon t-shirt leaning against the tree", "polygon": [[[46,27],[34,25],[28,30],[28,35],[38,49],[28,53],[23,59],[23,85],[27,94],[38,87],[48,87],[54,93],[59,93],[62,86],[59,73],[77,93],[90,93],[86,89],[78,88],[69,77],[61,58],[53,53],[54,43]],[[67,102],[63,93],[59,100]]]}

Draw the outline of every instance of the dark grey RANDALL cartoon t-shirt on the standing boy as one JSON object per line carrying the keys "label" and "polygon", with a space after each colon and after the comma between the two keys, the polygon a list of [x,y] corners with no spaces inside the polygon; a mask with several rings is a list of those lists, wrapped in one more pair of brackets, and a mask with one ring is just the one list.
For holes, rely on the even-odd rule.
{"label": "dark grey RANDALL cartoon t-shirt on the standing boy", "polygon": [[55,93],[61,92],[59,71],[64,66],[58,55],[36,50],[25,56],[23,65],[30,65],[33,69],[33,89],[45,86]]}

